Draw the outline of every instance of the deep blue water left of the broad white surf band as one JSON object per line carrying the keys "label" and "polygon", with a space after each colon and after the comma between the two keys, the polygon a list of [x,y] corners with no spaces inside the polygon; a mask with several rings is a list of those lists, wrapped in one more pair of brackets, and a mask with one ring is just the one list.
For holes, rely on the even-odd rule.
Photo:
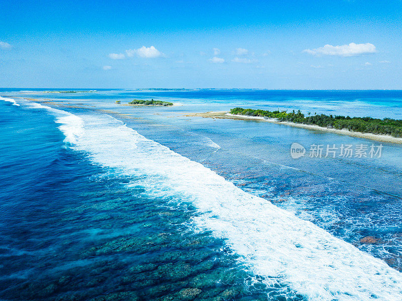
{"label": "deep blue water left of the broad white surf band", "polygon": [[264,299],[287,290],[245,285],[250,273],[222,240],[182,225],[191,206],[128,190],[133,179],[66,146],[54,116],[0,105],[0,298],[180,298],[191,286],[205,298]]}

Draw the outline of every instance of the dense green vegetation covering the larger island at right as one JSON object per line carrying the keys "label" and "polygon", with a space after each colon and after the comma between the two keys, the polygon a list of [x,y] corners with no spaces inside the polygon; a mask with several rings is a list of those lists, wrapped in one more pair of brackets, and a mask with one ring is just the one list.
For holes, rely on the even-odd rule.
{"label": "dense green vegetation covering the larger island at right", "polygon": [[243,109],[234,108],[230,110],[231,114],[236,115],[247,115],[247,116],[260,116],[267,118],[276,118],[279,121],[291,121],[294,123],[302,124],[314,124],[322,127],[336,128],[336,129],[348,129],[351,131],[363,132],[363,133],[373,133],[373,134],[384,134],[392,135],[394,137],[402,137],[402,120],[396,120],[391,118],[371,118],[371,117],[349,117],[349,116],[337,116],[337,115],[317,115],[315,113],[313,116],[305,117],[305,115],[300,111],[294,110],[290,113],[287,111],[264,111],[264,110],[253,110],[253,109]]}

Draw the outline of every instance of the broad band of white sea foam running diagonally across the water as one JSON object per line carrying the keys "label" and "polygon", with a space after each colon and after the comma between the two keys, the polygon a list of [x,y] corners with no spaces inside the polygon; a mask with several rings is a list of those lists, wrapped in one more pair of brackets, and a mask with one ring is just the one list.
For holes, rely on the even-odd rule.
{"label": "broad band of white sea foam running diagonally across the water", "polygon": [[191,201],[202,213],[194,218],[198,227],[226,238],[268,284],[280,281],[309,300],[402,300],[402,274],[382,260],[244,192],[113,117],[81,117],[84,131],[74,148],[98,164],[143,175],[136,185],[147,193]]}

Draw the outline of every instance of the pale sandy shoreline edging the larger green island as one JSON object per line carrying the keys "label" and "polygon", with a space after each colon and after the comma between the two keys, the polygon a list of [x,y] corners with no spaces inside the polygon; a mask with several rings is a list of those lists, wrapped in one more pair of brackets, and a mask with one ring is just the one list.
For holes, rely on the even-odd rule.
{"label": "pale sandy shoreline edging the larger green island", "polygon": [[348,136],[353,136],[353,137],[358,137],[358,138],[366,138],[366,139],[375,140],[375,141],[379,141],[379,142],[390,142],[390,143],[402,144],[402,138],[392,137],[390,135],[378,135],[378,134],[372,134],[372,133],[354,132],[354,131],[350,131],[347,129],[326,128],[326,127],[321,127],[321,126],[312,125],[312,124],[300,124],[300,123],[294,123],[294,122],[289,122],[289,121],[278,121],[277,119],[274,119],[274,118],[264,118],[264,117],[259,117],[259,116],[234,115],[234,114],[230,114],[228,111],[194,113],[194,114],[186,114],[185,116],[271,122],[271,123],[276,123],[276,124],[290,125],[290,126],[299,127],[299,128],[333,132],[336,134],[348,135]]}

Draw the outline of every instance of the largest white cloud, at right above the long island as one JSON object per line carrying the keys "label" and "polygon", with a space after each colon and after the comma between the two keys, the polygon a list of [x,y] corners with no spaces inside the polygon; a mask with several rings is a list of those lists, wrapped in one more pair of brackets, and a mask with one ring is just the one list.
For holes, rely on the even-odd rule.
{"label": "largest white cloud, at right above the long island", "polygon": [[321,56],[321,55],[337,55],[343,57],[357,56],[368,53],[375,53],[377,50],[375,46],[371,43],[356,44],[350,43],[349,45],[332,46],[325,45],[324,47],[316,49],[305,49],[303,52]]}

